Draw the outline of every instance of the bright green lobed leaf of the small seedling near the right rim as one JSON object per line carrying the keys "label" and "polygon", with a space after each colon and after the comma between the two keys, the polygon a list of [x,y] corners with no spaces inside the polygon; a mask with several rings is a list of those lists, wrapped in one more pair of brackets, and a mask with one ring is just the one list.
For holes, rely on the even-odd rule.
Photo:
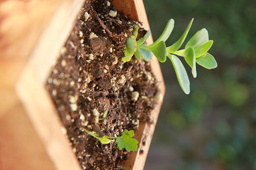
{"label": "bright green lobed leaf of the small seedling near the right rim", "polygon": [[133,130],[124,130],[122,136],[118,137],[115,142],[118,144],[118,149],[125,148],[128,152],[136,151],[138,149],[138,140],[132,138],[134,136]]}

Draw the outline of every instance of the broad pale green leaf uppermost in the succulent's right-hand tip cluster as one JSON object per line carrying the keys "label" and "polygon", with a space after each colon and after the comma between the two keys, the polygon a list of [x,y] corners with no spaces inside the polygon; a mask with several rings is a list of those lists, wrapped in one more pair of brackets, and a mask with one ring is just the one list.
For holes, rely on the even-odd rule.
{"label": "broad pale green leaf uppermost in the succulent's right-hand tip cluster", "polygon": [[193,37],[190,38],[185,48],[198,47],[207,41],[209,41],[208,31],[205,28],[203,28],[202,30],[197,31],[195,35],[193,35]]}

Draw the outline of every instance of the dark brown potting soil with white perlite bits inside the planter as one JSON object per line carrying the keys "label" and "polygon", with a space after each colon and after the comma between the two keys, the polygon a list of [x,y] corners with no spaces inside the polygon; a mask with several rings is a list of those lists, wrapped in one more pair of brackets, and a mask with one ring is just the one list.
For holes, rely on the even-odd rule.
{"label": "dark brown potting soil with white perlite bits inside the planter", "polygon": [[[100,136],[120,136],[125,129],[136,133],[156,105],[156,79],[149,62],[134,56],[130,62],[121,61],[135,24],[140,26],[108,1],[87,1],[49,76],[46,88],[84,170],[121,170],[120,161],[128,152],[118,150],[114,141],[101,144],[81,127]],[[140,28],[138,38],[143,34]],[[105,125],[98,118],[107,109]]]}

